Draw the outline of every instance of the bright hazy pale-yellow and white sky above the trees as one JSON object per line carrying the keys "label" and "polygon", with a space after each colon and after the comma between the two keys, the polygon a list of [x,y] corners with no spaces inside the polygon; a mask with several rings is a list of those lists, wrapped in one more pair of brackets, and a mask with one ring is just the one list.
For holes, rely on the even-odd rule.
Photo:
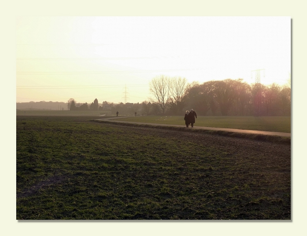
{"label": "bright hazy pale-yellow and white sky above the trees", "polygon": [[16,101],[148,100],[157,75],[287,83],[290,17],[18,17]]}

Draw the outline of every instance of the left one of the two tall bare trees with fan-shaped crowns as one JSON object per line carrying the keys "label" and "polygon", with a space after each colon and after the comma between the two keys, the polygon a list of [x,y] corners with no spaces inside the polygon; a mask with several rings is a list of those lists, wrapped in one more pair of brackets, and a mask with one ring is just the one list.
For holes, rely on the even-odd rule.
{"label": "left one of the two tall bare trees with fan-shaped crowns", "polygon": [[165,114],[165,109],[168,106],[170,98],[170,79],[165,75],[160,75],[151,80],[149,83],[149,91],[154,96],[151,99],[153,103],[157,103],[162,113]]}

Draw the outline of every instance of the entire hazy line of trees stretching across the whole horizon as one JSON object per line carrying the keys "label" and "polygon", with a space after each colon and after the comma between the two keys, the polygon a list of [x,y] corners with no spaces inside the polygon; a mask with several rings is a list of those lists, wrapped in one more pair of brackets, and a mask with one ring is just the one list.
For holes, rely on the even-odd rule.
{"label": "entire hazy line of trees stretching across the whole horizon", "polygon": [[[163,79],[163,81],[161,81]],[[154,82],[154,83],[153,83]],[[198,115],[291,115],[291,88],[276,83],[270,85],[248,84],[242,79],[225,79],[193,82],[186,84],[185,79],[173,78],[165,83],[165,77],[153,79],[151,93],[169,89],[162,99],[156,98],[142,103],[77,103],[71,98],[63,102],[16,103],[17,110],[104,110],[119,115],[182,115],[186,110],[194,109]],[[180,82],[180,83],[178,83]],[[164,83],[164,84],[163,84]],[[176,85],[176,86],[174,86]],[[168,87],[169,86],[169,87]],[[162,103],[163,101],[163,103]],[[256,111],[257,110],[257,111]]]}

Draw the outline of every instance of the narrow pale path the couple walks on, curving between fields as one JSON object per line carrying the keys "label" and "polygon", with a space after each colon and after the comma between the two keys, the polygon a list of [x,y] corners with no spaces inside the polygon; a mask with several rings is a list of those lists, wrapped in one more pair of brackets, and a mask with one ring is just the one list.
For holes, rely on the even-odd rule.
{"label": "narrow pale path the couple walks on, curving between fields", "polygon": [[[146,124],[146,125],[153,125],[153,126],[177,126],[177,127],[185,127],[185,125],[169,125],[169,124],[157,124],[157,123],[143,123],[143,122],[128,122],[128,121],[116,121],[114,119],[122,118],[122,117],[111,117],[111,118],[104,118],[104,119],[95,119],[95,120],[108,120],[111,122],[117,123],[135,123],[135,124]],[[227,129],[227,128],[213,128],[213,127],[202,127],[202,126],[195,126],[189,129],[204,129],[204,130],[222,130],[228,132],[237,132],[237,133],[252,133],[252,134],[263,134],[263,135],[276,135],[281,137],[291,137],[291,133],[281,133],[281,132],[270,132],[270,131],[258,131],[258,130],[238,130],[238,129]]]}

